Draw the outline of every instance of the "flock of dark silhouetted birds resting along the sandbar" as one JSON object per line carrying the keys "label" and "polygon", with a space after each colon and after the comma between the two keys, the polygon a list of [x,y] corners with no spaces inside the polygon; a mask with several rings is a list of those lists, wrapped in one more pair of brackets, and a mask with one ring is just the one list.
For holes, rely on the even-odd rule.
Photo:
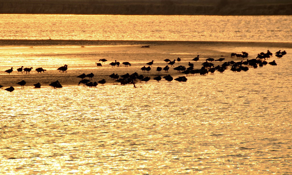
{"label": "flock of dark silhouetted birds resting along the sandbar", "polygon": [[[241,52],[242,54],[237,54],[237,53],[231,53],[231,58],[234,58],[235,56],[238,58],[238,59],[244,59],[244,58],[248,58],[248,53],[247,52]],[[282,51],[279,50],[278,52],[275,53],[275,56],[277,58],[281,58],[283,57],[284,55],[286,55],[286,51]],[[215,71],[218,71],[220,73],[223,73],[229,66],[231,66],[231,71],[233,72],[240,72],[240,71],[248,71],[249,68],[248,67],[253,67],[254,69],[258,68],[258,67],[263,67],[264,65],[267,65],[267,64],[270,64],[270,65],[277,65],[277,63],[274,61],[272,62],[267,62],[266,59],[269,59],[270,57],[272,57],[273,54],[267,50],[267,53],[264,53],[264,52],[261,52],[257,55],[256,58],[254,59],[247,59],[246,61],[239,61],[239,62],[235,62],[235,61],[228,61],[228,62],[224,62],[223,64],[221,65],[217,65],[217,66],[214,66],[214,64],[212,62],[214,61],[219,61],[219,62],[222,62],[225,60],[225,58],[219,58],[217,60],[215,60],[214,58],[207,58],[205,62],[202,63],[202,67],[201,69],[194,69],[194,63],[191,63],[191,62],[188,62],[188,66],[189,67],[185,67],[185,66],[182,66],[182,65],[179,65],[178,67],[174,67],[174,64],[175,64],[175,61],[177,62],[180,62],[181,59],[178,57],[176,60],[169,60],[169,59],[165,59],[164,61],[166,62],[166,66],[164,68],[162,67],[157,67],[156,68],[156,71],[158,73],[160,73],[160,71],[164,70],[165,72],[168,72],[168,70],[170,69],[170,67],[174,67],[173,69],[176,70],[177,72],[181,72],[182,74],[185,74],[186,76],[188,74],[191,74],[192,76],[194,76],[194,74],[196,75],[206,75],[208,74],[209,72],[211,74],[214,74]],[[197,55],[197,57],[195,57],[194,59],[192,59],[192,61],[195,61],[197,62],[199,60],[199,55]],[[107,62],[106,59],[100,59],[99,61],[102,61],[102,63],[105,63]],[[101,63],[95,63],[97,65],[97,67],[102,67],[102,64]],[[125,65],[125,67],[128,67],[130,66],[131,67],[131,63],[129,62],[123,62],[122,64]],[[142,72],[145,73],[145,71],[149,72],[151,70],[151,67],[152,65],[154,64],[154,60],[152,60],[151,62],[148,62],[146,63],[148,65],[148,67],[146,66],[143,66],[141,68]],[[117,60],[115,60],[115,62],[111,62],[109,63],[109,65],[111,65],[112,67],[119,67],[120,63],[117,62]],[[168,66],[170,65],[170,67]],[[30,67],[30,68],[23,68],[20,67],[17,69],[18,73],[28,73],[32,70],[33,68]],[[68,65],[64,65],[62,67],[59,67],[57,70],[59,70],[59,72],[67,72],[67,69],[68,69]],[[10,74],[11,72],[13,71],[13,67],[11,67],[11,69],[8,69],[6,70],[5,72],[7,72],[8,74]],[[23,72],[22,72],[23,71]],[[44,72],[46,71],[45,69],[39,67],[36,69],[36,71],[38,73],[41,73],[41,72]],[[91,82],[92,78],[93,78],[94,74],[93,73],[90,73],[90,74],[81,74],[79,76],[77,76],[77,78],[81,78],[81,80],[79,81],[78,85],[80,84],[83,84],[84,86],[88,86],[88,87],[96,87],[98,84],[101,84],[101,85],[104,85],[106,83],[106,80],[105,79],[102,79],[98,82]],[[88,79],[85,79],[86,77],[88,77]],[[133,84],[134,87],[136,88],[135,86],[135,83],[136,83],[136,80],[138,79],[139,82],[141,83],[142,81],[145,83],[147,83],[151,78],[146,76],[144,77],[142,74],[138,74],[137,72],[133,73],[133,74],[124,74],[124,75],[121,75],[119,76],[118,74],[111,74],[109,75],[110,78],[112,78],[112,80],[115,80],[119,83],[121,83],[121,85],[126,85],[126,84]],[[185,76],[178,76],[178,78],[173,78],[170,74],[166,75],[166,76],[156,76],[154,77],[153,79],[156,80],[157,82],[161,81],[162,78],[164,78],[166,81],[168,82],[171,82],[173,80],[175,81],[178,81],[178,82],[185,82],[187,81],[187,78]],[[21,86],[21,89],[24,88],[24,85],[26,84],[26,81],[25,80],[22,80],[18,83],[16,83],[18,85]],[[60,84],[60,82],[57,80],[57,81],[54,81],[52,83],[49,84],[49,86],[52,86],[53,88],[62,88],[62,85]],[[0,85],[0,88],[3,88],[4,86]],[[41,84],[40,83],[36,83],[34,84],[34,88],[41,88]],[[11,86],[9,88],[6,88],[5,90],[9,91],[9,92],[12,92],[14,90],[14,88]]]}

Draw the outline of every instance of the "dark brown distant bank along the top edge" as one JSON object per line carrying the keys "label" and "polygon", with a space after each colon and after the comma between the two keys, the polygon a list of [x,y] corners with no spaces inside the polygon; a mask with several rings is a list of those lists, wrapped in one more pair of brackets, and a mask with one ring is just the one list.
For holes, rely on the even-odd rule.
{"label": "dark brown distant bank along the top edge", "polygon": [[292,15],[291,0],[0,0],[1,14]]}

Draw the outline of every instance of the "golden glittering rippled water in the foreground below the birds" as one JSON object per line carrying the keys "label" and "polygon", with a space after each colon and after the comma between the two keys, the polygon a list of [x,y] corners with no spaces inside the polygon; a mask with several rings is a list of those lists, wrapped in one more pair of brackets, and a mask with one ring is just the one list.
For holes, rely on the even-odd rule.
{"label": "golden glittering rippled water in the foreground below the birds", "polygon": [[141,88],[1,90],[0,171],[290,174],[292,62],[277,63]]}

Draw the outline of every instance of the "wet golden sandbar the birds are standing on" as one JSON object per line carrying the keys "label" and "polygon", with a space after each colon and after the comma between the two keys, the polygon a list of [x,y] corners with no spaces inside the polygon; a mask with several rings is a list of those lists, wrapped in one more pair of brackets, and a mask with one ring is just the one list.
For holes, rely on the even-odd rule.
{"label": "wet golden sandbar the birds are standing on", "polygon": [[[35,83],[41,83],[46,86],[49,83],[59,80],[62,85],[77,85],[81,80],[76,78],[80,74],[95,74],[94,81],[105,79],[106,85],[117,83],[109,78],[112,73],[120,76],[126,73],[132,74],[137,72],[144,76],[150,76],[150,82],[154,82],[154,76],[165,76],[170,74],[174,78],[185,76],[178,73],[170,67],[168,73],[163,70],[161,73],[156,68],[165,67],[167,64],[163,60],[170,60],[180,57],[182,61],[175,63],[174,66],[188,66],[188,62],[194,63],[195,69],[201,68],[201,63],[206,58],[212,57],[218,59],[225,58],[225,61],[240,61],[239,59],[230,58],[230,53],[246,51],[250,53],[250,59],[255,58],[260,51],[270,49],[273,53],[279,49],[292,48],[292,43],[273,43],[273,42],[200,42],[200,41],[87,41],[87,40],[1,40],[1,66],[0,66],[0,84],[18,87],[15,83],[25,80],[25,86],[33,86]],[[141,48],[142,46],[150,48]],[[84,47],[81,47],[84,46]],[[272,48],[272,49],[271,49]],[[284,50],[283,49],[283,50]],[[200,55],[198,62],[192,61],[194,57]],[[17,58],[17,61],[15,61]],[[21,58],[21,59],[20,59]],[[98,68],[95,62],[105,58],[108,60],[102,63]],[[270,60],[272,61],[273,58]],[[131,67],[112,68],[110,62],[130,62]],[[142,73],[141,67],[146,66],[147,62],[154,60],[150,73]],[[101,63],[101,61],[100,61]],[[223,62],[213,62],[216,65]],[[65,73],[59,72],[58,67],[68,65]],[[17,68],[33,67],[30,74],[18,74]],[[170,65],[169,65],[170,66]],[[11,67],[14,71],[9,75],[4,72]],[[37,73],[36,68],[46,69],[44,73]],[[189,75],[190,76],[190,75]],[[164,80],[163,80],[164,81]]]}

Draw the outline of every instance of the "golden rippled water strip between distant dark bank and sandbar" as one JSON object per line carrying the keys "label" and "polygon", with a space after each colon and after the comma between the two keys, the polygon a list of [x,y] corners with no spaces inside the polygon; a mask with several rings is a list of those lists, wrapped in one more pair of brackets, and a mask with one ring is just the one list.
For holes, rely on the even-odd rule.
{"label": "golden rippled water strip between distant dark bank and sandbar", "polygon": [[0,38],[292,42],[291,21],[292,16],[2,14]]}

